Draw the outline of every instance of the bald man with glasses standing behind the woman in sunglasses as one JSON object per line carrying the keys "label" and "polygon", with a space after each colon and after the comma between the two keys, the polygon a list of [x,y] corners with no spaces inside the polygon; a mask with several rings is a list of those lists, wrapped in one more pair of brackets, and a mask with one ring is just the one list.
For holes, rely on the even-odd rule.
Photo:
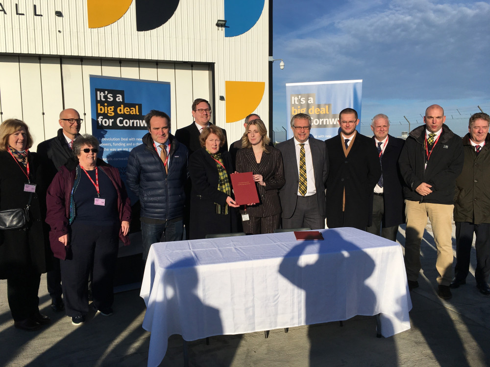
{"label": "bald man with glasses standing behind the woman in sunglasses", "polygon": [[[56,172],[65,164],[76,164],[72,151],[73,140],[78,137],[83,119],[73,108],[61,111],[58,120],[61,129],[54,138],[43,141],[37,146],[37,153],[43,160],[46,186],[51,184]],[[51,308],[54,312],[65,309],[61,290],[60,260],[53,257],[53,270],[46,275],[48,292],[51,296]]]}

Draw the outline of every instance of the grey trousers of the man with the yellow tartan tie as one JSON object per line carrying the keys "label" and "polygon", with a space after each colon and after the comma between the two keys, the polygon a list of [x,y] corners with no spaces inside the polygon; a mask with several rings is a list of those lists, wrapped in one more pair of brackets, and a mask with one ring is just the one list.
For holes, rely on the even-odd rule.
{"label": "grey trousers of the man with the yellow tartan tie", "polygon": [[317,195],[298,196],[291,218],[282,218],[282,228],[325,229],[325,217],[319,213]]}

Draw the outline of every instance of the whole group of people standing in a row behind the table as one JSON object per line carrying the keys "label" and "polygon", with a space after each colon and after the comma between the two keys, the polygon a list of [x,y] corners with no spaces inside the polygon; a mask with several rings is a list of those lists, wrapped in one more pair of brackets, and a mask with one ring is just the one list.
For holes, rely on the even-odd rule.
{"label": "whole group of people standing in a row behind the table", "polygon": [[[406,141],[389,135],[386,115],[374,116],[373,137],[359,134],[358,114],[339,114],[339,134],[310,134],[311,117],[291,119],[293,138],[273,146],[259,115],[245,118],[244,134],[228,151],[226,131],[212,124],[211,105],[198,98],[194,121],[175,135],[171,119],[151,110],[148,132],[129,154],[126,183],[140,202],[145,262],[151,244],[243,231],[354,227],[396,240],[407,224],[405,266],[410,290],[418,286],[420,242],[427,219],[437,246],[438,295],[466,283],[473,233],[475,277],[490,294],[489,115],[469,120],[461,139],[442,108],[427,108],[424,125]],[[41,273],[48,272],[53,311],[73,325],[90,312],[112,314],[119,240],[128,244],[131,208],[119,172],[97,158],[98,139],[80,135],[73,109],[60,114],[56,137],[29,152],[32,137],[20,120],[0,125],[0,210],[29,206],[23,229],[0,230],[0,278],[7,279],[14,325],[36,330],[49,323],[39,312]],[[230,175],[252,172],[259,203],[239,206]],[[457,264],[452,278],[451,222],[456,221]],[[50,247],[50,248],[49,248]],[[54,257],[53,257],[54,254]]]}

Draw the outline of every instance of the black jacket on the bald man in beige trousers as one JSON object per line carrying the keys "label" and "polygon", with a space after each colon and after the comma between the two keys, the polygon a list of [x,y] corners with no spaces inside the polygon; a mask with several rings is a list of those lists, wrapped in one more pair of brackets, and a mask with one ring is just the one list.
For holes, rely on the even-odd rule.
{"label": "black jacket on the bald man in beige trousers", "polygon": [[[432,148],[425,167],[425,125],[412,130],[405,141],[398,164],[403,176],[405,199],[420,203],[454,204],[455,181],[463,169],[463,144],[461,138],[446,125],[438,142]],[[419,195],[416,188],[426,183],[432,185],[432,193]]]}

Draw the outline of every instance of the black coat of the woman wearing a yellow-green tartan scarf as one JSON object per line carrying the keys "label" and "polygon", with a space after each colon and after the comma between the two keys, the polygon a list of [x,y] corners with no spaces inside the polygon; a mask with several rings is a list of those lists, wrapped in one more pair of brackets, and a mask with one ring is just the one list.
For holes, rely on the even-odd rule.
{"label": "black coat of the woman wearing a yellow-green tartan scarf", "polygon": [[[232,171],[231,156],[221,153],[224,168]],[[192,180],[191,190],[191,229],[190,239],[204,238],[206,234],[230,233],[236,231],[236,209],[228,207],[227,215],[217,214],[216,205],[226,204],[228,195],[218,190],[218,168],[211,155],[201,148],[189,158],[189,173]]]}

